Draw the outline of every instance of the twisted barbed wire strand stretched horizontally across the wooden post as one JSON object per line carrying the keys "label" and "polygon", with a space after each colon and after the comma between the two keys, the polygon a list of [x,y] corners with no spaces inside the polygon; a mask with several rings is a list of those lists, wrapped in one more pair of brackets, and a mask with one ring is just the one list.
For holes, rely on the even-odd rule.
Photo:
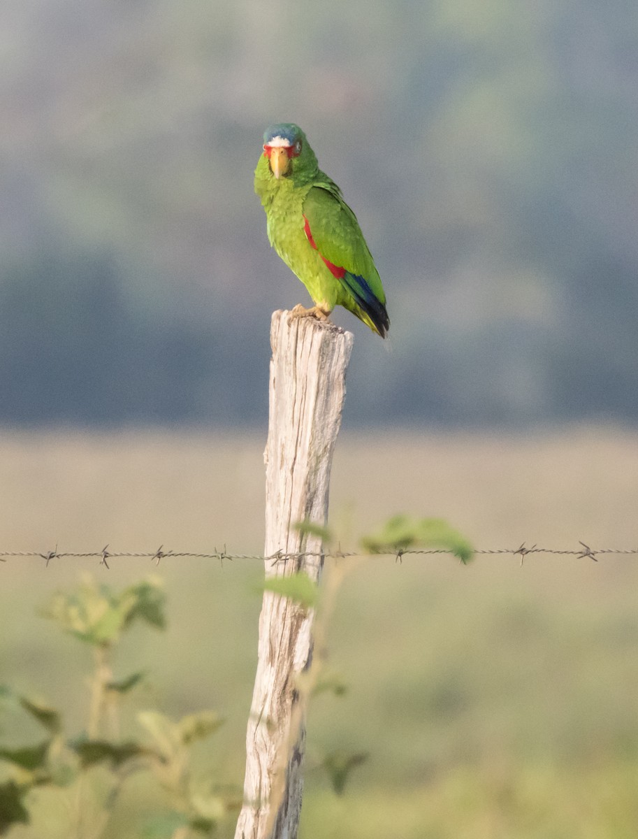
{"label": "twisted barbed wire strand stretched horizontally across the wooden post", "polygon": [[[525,542],[514,548],[492,548],[492,549],[477,549],[472,551],[473,556],[496,556],[496,555],[511,555],[520,556],[521,565],[526,556],[530,554],[547,554],[552,556],[575,556],[578,559],[590,559],[598,562],[598,557],[602,555],[638,555],[638,548],[597,548],[592,550],[589,545],[578,539],[580,548],[573,550],[557,549],[557,548],[539,548],[537,545],[526,547]],[[224,560],[258,560],[261,562],[271,562],[276,564],[278,562],[288,562],[289,560],[310,559],[312,557],[321,557],[325,559],[354,559],[354,558],[369,558],[372,556],[394,556],[397,562],[402,561],[404,556],[413,555],[455,555],[454,550],[450,548],[392,548],[390,546],[383,547],[381,550],[324,550],[324,551],[304,551],[302,553],[284,553],[283,550],[278,550],[276,553],[265,556],[262,554],[240,554],[233,553],[226,550],[217,550],[214,548],[212,552],[200,553],[191,550],[164,550],[164,546],[160,545],[157,550],[152,551],[137,551],[137,550],[109,550],[109,545],[105,545],[101,550],[58,550],[55,545],[54,550],[0,550],[0,562],[6,562],[9,558],[26,559],[40,557],[44,560],[46,565],[49,565],[51,560],[62,559],[99,559],[100,565],[109,567],[108,560],[111,559],[148,559],[153,560],[159,565],[160,560],[164,559],[192,559],[192,560],[219,560],[223,565]]]}

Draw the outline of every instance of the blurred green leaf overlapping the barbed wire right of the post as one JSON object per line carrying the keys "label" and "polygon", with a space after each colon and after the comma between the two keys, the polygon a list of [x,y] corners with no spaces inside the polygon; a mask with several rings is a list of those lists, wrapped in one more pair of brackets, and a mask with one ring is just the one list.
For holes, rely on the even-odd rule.
{"label": "blurred green leaf overlapping the barbed wire right of the post", "polygon": [[398,515],[375,535],[361,540],[372,554],[400,553],[409,549],[444,550],[466,565],[474,555],[469,541],[443,519],[410,519]]}

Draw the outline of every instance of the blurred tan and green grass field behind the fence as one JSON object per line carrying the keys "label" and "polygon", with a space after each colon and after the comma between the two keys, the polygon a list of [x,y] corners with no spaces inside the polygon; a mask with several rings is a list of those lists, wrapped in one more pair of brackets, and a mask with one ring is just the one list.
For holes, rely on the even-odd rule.
{"label": "blurred tan and green grass field behind the fence", "polygon": [[[265,438],[6,433],[0,550],[260,552]],[[638,548],[638,434],[342,434],[331,526],[341,547],[394,513],[437,516],[477,548]],[[85,724],[88,652],[36,616],[83,571],[169,593],[166,633],[134,630],[117,675],[148,670],[138,706],[212,707],[201,748],[241,786],[262,569],[249,561],[9,559],[0,565],[0,682]],[[623,839],[638,825],[638,556],[373,558],[346,577],[329,627],[345,696],[314,700],[302,839]],[[3,721],[0,720],[0,723]],[[6,742],[22,736],[3,727]],[[368,753],[344,796],[319,763]],[[133,785],[109,837],[138,836]],[[126,826],[125,826],[126,824]],[[220,836],[232,836],[232,820]],[[15,828],[18,839],[42,836]],[[53,836],[54,833],[49,834]]]}

